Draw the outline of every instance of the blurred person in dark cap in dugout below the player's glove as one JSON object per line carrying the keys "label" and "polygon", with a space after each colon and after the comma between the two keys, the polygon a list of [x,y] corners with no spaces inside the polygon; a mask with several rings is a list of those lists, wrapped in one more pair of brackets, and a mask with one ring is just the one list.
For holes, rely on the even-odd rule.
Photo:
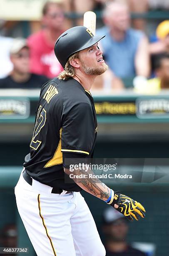
{"label": "blurred person in dark cap in dugout below the player's glove", "polygon": [[103,212],[103,232],[106,237],[106,256],[145,256],[145,253],[132,248],[127,241],[129,221],[112,207]]}

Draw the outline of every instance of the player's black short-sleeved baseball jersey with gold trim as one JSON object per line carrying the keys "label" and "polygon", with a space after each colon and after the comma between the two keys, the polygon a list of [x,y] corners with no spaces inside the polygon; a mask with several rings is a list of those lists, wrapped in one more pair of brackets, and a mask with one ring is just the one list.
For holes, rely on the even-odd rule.
{"label": "player's black short-sleeved baseball jersey with gold trim", "polygon": [[[23,166],[33,179],[50,187],[80,191],[65,183],[64,158],[91,158],[97,136],[94,101],[73,78],[54,78],[42,86],[30,154]],[[68,177],[70,179],[70,177]]]}

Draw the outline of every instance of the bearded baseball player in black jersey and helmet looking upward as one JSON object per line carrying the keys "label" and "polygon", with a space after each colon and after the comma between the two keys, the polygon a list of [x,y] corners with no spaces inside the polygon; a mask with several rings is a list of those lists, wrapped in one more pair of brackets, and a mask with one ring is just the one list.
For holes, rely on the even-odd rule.
{"label": "bearded baseball player in black jersey and helmet looking upward", "polygon": [[17,209],[38,256],[105,256],[82,189],[129,220],[145,216],[139,202],[89,179],[92,170],[77,168],[74,174],[87,176],[70,178],[70,164],[92,158],[94,151],[97,119],[89,90],[107,70],[97,45],[103,37],[84,26],[65,31],[55,44],[64,71],[40,92],[30,154],[15,187]]}

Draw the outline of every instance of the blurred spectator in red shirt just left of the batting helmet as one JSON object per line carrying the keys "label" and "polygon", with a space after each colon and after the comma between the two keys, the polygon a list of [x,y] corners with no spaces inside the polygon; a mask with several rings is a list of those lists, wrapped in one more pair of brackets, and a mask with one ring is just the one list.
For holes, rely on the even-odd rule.
{"label": "blurred spectator in red shirt just left of the batting helmet", "polygon": [[35,74],[53,78],[63,70],[54,53],[55,41],[65,31],[62,5],[48,1],[42,9],[42,15],[44,28],[27,38],[30,68]]}

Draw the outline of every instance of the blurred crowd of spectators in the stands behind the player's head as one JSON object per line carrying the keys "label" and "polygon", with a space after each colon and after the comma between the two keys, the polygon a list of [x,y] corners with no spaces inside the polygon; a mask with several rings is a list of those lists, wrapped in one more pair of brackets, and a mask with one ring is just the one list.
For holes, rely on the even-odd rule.
{"label": "blurred crowd of spectators in the stands behind the player's head", "polygon": [[67,28],[83,25],[83,13],[94,10],[102,14],[96,34],[106,35],[99,47],[109,69],[95,79],[92,90],[134,88],[135,92],[154,94],[168,89],[169,20],[150,26],[147,20],[131,19],[130,15],[159,9],[169,10],[169,0],[47,1],[39,26],[27,38],[7,36],[3,22],[0,88],[40,88],[56,77],[62,71],[54,53],[56,39]]}

